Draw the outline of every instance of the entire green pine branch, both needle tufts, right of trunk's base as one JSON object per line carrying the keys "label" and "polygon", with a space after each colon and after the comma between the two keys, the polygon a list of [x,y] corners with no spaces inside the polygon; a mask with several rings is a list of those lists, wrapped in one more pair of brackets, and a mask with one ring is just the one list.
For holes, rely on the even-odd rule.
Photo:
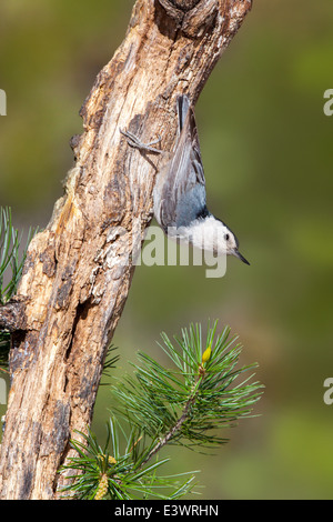
{"label": "entire green pine branch, both needle tufts, right of trunk's base", "polygon": [[159,460],[160,450],[167,444],[195,450],[224,444],[221,430],[251,415],[262,385],[248,374],[255,364],[239,368],[242,348],[228,327],[216,334],[215,322],[203,341],[201,325],[191,324],[174,341],[162,333],[160,347],[171,369],[140,352],[134,375],[111,387],[118,420],[110,419],[104,448],[90,431],[71,441],[78,456],[62,468],[69,478],[65,494],[179,499],[193,492],[195,472],[160,475],[169,461]]}

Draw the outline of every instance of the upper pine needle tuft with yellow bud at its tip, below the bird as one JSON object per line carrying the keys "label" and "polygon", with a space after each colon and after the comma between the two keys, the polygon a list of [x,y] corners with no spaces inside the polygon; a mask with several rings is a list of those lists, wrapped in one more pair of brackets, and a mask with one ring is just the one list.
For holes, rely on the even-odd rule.
{"label": "upper pine needle tuft with yellow bud at its tip, below the bird", "polygon": [[[216,324],[209,329],[205,345],[200,325],[183,330],[182,338],[176,339],[179,347],[162,334],[161,348],[175,365],[173,370],[139,353],[135,380],[125,377],[113,387],[117,411],[133,425],[144,426],[144,433],[158,438],[159,443],[164,439],[173,443],[188,440],[191,445],[226,442],[211,430],[232,425],[239,418],[249,415],[260,396],[260,385],[245,381],[233,385],[235,379],[254,365],[236,369],[241,345],[235,344],[236,338],[230,339],[229,328],[214,341],[215,329]],[[203,364],[202,354],[208,348],[212,355]]]}

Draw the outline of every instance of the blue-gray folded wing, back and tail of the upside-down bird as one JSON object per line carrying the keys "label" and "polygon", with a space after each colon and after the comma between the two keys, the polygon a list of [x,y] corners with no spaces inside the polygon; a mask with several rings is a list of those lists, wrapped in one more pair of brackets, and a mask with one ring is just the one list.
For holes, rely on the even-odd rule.
{"label": "blue-gray folded wing, back and tail of the upside-down bird", "polygon": [[200,144],[188,97],[178,99],[178,111],[180,135],[154,195],[155,218],[164,231],[168,227],[186,227],[206,212]]}

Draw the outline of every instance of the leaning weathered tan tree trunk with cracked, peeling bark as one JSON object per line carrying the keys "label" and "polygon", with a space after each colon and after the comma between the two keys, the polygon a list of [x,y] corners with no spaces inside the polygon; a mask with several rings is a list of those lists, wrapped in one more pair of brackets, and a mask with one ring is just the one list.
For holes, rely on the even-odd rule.
{"label": "leaning weathered tan tree trunk with cracked, peeling bark", "polygon": [[160,134],[169,150],[175,97],[195,102],[251,3],[138,0],[124,41],[99,73],[81,109],[84,131],[72,140],[64,195],[29,247],[17,302],[0,312],[13,331],[2,499],[54,499],[69,438],[91,421],[133,275],[133,223],[143,232],[151,221],[159,162],[128,147],[119,128],[142,141]]}

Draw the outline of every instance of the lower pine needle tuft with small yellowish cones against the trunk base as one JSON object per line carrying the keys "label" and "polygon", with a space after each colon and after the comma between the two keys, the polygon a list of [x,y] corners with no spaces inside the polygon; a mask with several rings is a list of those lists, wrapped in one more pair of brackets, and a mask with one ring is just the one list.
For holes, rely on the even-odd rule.
{"label": "lower pine needle tuft with small yellowish cones against the trunk base", "polygon": [[[91,431],[88,435],[78,432],[83,442],[71,441],[78,456],[71,458],[70,463],[61,469],[70,482],[62,490],[64,499],[179,499],[191,491],[194,479],[191,473],[169,476],[157,474],[158,468],[169,459],[144,468],[141,465],[152,444],[143,446],[135,429],[127,434],[114,418],[110,419],[107,428],[108,439],[103,448]],[[124,443],[123,450],[121,442]],[[165,496],[169,490],[171,492]]]}

